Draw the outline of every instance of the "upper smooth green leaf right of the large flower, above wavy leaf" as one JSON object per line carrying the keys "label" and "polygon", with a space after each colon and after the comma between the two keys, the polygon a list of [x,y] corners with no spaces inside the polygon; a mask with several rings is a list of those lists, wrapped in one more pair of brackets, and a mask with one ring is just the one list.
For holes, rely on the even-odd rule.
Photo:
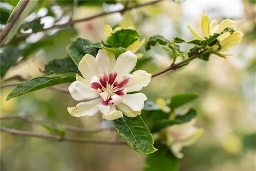
{"label": "upper smooth green leaf right of the large flower, above wavy leaf", "polygon": [[196,92],[187,92],[183,94],[176,94],[170,99],[169,107],[171,109],[178,108],[186,103],[195,100],[199,96]]}

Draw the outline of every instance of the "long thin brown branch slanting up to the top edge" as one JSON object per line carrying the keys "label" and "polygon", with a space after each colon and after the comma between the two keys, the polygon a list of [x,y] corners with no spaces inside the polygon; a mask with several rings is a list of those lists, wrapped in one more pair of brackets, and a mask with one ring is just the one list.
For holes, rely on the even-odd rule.
{"label": "long thin brown branch slanting up to the top edge", "polygon": [[[87,17],[87,18],[83,18],[83,19],[70,20],[67,23],[63,23],[62,25],[53,25],[52,27],[44,29],[44,30],[41,30],[39,32],[45,32],[47,30],[52,30],[52,29],[56,29],[56,28],[72,26],[72,25],[74,25],[74,23],[77,23],[77,22],[89,21],[89,20],[92,20],[92,19],[95,19],[95,18],[98,18],[98,17],[102,17],[102,16],[106,16],[106,15],[110,15],[110,14],[114,14],[114,13],[118,13],[118,12],[122,13],[122,12],[125,12],[125,11],[128,11],[128,10],[131,10],[131,9],[136,9],[136,8],[141,8],[141,7],[148,6],[148,5],[153,5],[153,4],[156,4],[156,3],[161,2],[161,1],[163,1],[163,0],[157,0],[157,1],[149,2],[149,3],[144,3],[144,4],[137,5],[137,6],[128,7],[128,8],[124,8],[124,9],[121,9],[121,10],[112,11],[112,12],[102,12],[102,13],[99,13],[97,15],[94,15],[94,16],[91,16],[91,17]],[[15,39],[17,39],[17,40],[24,39],[24,38],[30,36],[33,33],[34,32],[28,33],[28,34],[19,35],[19,36],[16,36]],[[13,40],[11,42],[13,42]]]}

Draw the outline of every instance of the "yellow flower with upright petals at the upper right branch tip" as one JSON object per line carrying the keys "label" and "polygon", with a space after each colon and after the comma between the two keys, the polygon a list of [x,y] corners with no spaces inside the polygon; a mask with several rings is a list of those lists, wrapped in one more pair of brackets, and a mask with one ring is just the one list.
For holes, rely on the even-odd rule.
{"label": "yellow flower with upright petals at the upper right branch tip", "polygon": [[[220,22],[218,25],[216,20],[209,21],[208,16],[203,12],[202,14],[202,20],[201,20],[201,28],[202,33],[204,37],[209,38],[210,35],[214,35],[214,33],[221,33],[225,28],[232,28],[234,30],[237,29],[237,22],[233,21],[231,19],[224,19]],[[190,26],[188,26],[188,29],[192,33],[192,35],[199,40],[203,40],[202,38],[195,30],[193,30]],[[243,37],[243,33],[240,31],[236,31],[230,35],[229,32],[226,32],[218,37],[220,43],[221,43],[221,50],[220,52],[227,51],[228,48],[238,44],[241,42]]]}

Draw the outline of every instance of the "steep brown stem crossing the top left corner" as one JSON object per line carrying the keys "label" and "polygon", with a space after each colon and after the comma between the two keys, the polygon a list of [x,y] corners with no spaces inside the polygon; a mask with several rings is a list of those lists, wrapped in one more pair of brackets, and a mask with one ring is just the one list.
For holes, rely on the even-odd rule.
{"label": "steep brown stem crossing the top left corner", "polygon": [[24,9],[26,8],[26,6],[28,5],[30,0],[23,0],[22,3],[19,5],[18,9],[16,10],[16,12],[13,14],[12,18],[10,19],[10,21],[6,24],[5,28],[2,30],[2,32],[0,33],[0,46],[3,45],[3,41],[6,38],[6,36],[8,35],[8,33],[10,32],[10,30],[12,29],[12,27],[14,26],[15,22],[17,21],[17,19],[19,18],[20,14],[22,14],[22,12],[24,11]]}

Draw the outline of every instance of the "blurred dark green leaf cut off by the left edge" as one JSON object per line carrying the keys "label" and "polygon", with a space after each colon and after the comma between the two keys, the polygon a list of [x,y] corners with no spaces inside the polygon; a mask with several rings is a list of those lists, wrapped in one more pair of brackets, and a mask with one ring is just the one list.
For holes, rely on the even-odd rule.
{"label": "blurred dark green leaf cut off by the left edge", "polygon": [[22,56],[16,47],[3,47],[0,49],[0,77],[3,78],[7,70]]}

